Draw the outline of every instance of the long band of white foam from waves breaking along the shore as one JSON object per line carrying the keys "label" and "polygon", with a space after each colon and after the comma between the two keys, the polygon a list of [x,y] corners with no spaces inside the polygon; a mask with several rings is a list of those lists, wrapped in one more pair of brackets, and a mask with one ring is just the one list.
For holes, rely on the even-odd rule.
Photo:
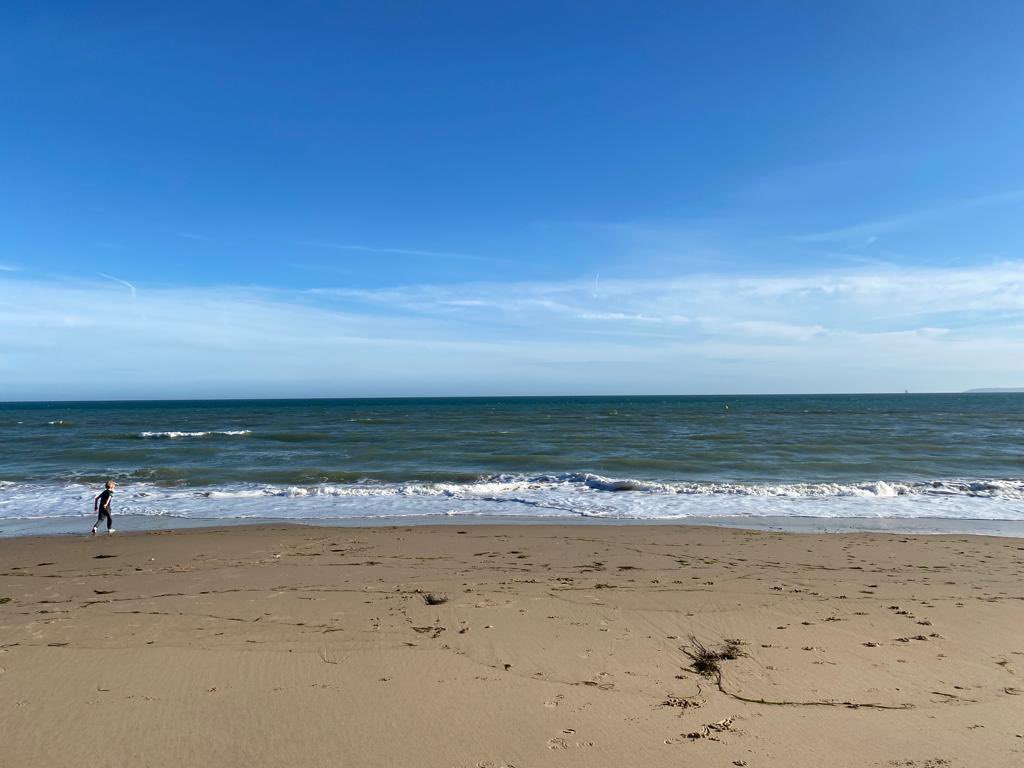
{"label": "long band of white foam from waves breaking along the shore", "polygon": [[[95,488],[3,481],[0,520],[91,516]],[[115,514],[190,518],[437,515],[674,520],[701,517],[946,518],[1024,521],[1024,479],[859,483],[658,482],[590,473],[498,475],[476,482],[166,487],[123,483]]]}

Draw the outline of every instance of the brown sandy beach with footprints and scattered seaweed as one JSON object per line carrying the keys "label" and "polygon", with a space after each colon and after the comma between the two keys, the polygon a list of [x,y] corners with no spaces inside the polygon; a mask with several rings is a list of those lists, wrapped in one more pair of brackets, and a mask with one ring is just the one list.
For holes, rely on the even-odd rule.
{"label": "brown sandy beach with footprints and scattered seaweed", "polygon": [[967,536],[8,540],[0,765],[1021,766],[1022,577]]}

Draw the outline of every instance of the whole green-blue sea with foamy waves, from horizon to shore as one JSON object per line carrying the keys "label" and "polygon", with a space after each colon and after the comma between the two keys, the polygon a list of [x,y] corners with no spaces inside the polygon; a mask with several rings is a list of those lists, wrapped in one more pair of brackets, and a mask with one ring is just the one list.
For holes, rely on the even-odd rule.
{"label": "whole green-blue sea with foamy waves, from horizon to shore", "polygon": [[1024,394],[0,403],[0,536],[717,523],[1024,535]]}

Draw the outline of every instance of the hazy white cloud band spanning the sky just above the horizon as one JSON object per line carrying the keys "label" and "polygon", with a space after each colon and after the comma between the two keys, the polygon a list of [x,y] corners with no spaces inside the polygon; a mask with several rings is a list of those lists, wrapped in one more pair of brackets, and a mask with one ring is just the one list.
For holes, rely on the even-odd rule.
{"label": "hazy white cloud band spanning the sky just above the horizon", "polygon": [[124,302],[109,283],[10,275],[0,350],[0,399],[1013,386],[1024,382],[1024,261],[604,276],[597,295],[582,278],[146,287]]}

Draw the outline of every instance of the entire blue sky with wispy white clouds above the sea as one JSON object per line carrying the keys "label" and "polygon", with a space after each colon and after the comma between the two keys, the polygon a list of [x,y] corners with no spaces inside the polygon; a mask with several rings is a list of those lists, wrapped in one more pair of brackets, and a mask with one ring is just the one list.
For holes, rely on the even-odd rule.
{"label": "entire blue sky with wispy white clouds above the sea", "polygon": [[4,4],[0,399],[1024,386],[1022,34]]}

